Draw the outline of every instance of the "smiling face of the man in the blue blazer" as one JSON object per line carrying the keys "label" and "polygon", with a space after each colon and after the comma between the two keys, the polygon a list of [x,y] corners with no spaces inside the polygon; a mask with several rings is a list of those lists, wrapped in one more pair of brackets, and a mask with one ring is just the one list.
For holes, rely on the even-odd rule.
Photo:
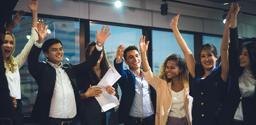
{"label": "smiling face of the man in the blue blazer", "polygon": [[140,54],[137,50],[131,50],[126,52],[126,60],[124,60],[125,64],[129,66],[131,70],[137,70],[140,68]]}

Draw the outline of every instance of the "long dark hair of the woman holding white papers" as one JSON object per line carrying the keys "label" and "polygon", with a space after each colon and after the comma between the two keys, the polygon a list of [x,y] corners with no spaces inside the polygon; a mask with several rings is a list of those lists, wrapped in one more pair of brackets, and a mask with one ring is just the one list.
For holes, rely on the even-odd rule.
{"label": "long dark hair of the woman holding white papers", "polygon": [[[88,60],[88,58],[90,56],[91,47],[95,47],[95,45],[96,45],[95,41],[93,41],[87,45],[87,48],[85,49],[85,60]],[[107,60],[106,51],[104,50],[104,46],[103,46],[102,54],[103,54],[103,57],[100,62],[100,69],[101,69],[100,77],[101,78],[103,78],[103,76],[106,74],[106,72],[110,68],[110,64]],[[85,77],[86,77],[86,82],[91,84],[91,86],[97,85],[101,79],[101,78],[100,79],[98,78],[98,76],[93,68],[87,72]]]}

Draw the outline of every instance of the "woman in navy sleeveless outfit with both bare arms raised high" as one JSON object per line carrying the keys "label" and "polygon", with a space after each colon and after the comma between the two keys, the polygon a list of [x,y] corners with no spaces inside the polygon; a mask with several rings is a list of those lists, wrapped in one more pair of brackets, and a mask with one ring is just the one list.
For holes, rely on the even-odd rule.
{"label": "woman in navy sleeveless outfit with both bare arms raised high", "polygon": [[[232,4],[233,5],[233,4]],[[233,12],[231,5],[227,17]],[[224,95],[227,93],[228,70],[228,33],[230,20],[225,23],[224,34],[220,47],[221,66],[216,66],[218,59],[216,48],[212,44],[202,45],[199,50],[200,65],[194,60],[193,54],[182,38],[178,28],[179,15],[171,21],[175,38],[180,45],[192,79],[190,79],[190,95],[193,97],[192,124],[215,125],[216,116],[221,109]]]}

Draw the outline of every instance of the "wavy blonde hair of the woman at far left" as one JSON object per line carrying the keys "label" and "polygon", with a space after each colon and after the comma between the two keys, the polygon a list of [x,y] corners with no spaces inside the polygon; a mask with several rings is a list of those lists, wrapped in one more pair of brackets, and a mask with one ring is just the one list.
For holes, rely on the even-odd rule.
{"label": "wavy blonde hair of the woman at far left", "polygon": [[14,57],[12,56],[12,54],[14,53],[14,48],[15,48],[15,37],[12,33],[10,32],[6,32],[5,35],[11,35],[12,36],[12,39],[13,39],[13,49],[10,53],[10,56],[7,57],[7,60],[4,61],[4,67],[6,68],[6,71],[5,72],[8,72],[8,71],[11,71],[12,73],[14,73],[16,70],[17,70],[17,64],[14,63]]}

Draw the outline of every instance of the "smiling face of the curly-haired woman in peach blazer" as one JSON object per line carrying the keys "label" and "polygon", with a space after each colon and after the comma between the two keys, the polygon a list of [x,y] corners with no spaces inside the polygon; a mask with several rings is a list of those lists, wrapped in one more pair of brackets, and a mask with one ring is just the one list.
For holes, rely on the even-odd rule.
{"label": "smiling face of the curly-haired woman in peach blazer", "polygon": [[182,72],[183,68],[179,68],[177,62],[174,60],[169,60],[166,64],[165,73],[167,78],[171,79],[174,77],[180,77],[180,73]]}

